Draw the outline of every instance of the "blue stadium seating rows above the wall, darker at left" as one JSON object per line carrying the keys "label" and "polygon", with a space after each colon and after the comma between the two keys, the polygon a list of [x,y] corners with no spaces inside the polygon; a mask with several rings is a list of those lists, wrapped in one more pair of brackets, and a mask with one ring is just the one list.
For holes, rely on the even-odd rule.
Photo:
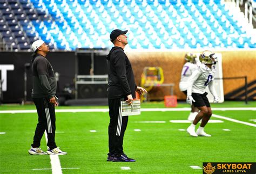
{"label": "blue stadium seating rows above the wall, darker at left", "polygon": [[110,48],[116,28],[131,49],[256,48],[235,13],[220,0],[0,0],[0,32],[16,51]]}

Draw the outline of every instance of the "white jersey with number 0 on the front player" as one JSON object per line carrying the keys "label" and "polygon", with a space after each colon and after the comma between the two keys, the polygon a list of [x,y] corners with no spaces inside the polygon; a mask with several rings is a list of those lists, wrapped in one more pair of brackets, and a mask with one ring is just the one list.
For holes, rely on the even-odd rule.
{"label": "white jersey with number 0 on the front player", "polygon": [[212,83],[215,73],[216,67],[214,65],[208,68],[205,64],[200,64],[188,80],[187,95],[191,95],[191,92],[203,94],[205,93],[206,86],[210,85],[211,93],[215,96],[215,89]]}

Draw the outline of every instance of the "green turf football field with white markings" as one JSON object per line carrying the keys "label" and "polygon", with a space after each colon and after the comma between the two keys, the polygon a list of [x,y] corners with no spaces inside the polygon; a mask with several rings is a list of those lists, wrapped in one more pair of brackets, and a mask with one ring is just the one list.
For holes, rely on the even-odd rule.
{"label": "green turf football field with white markings", "polygon": [[[56,143],[63,156],[29,155],[37,124],[35,106],[0,106],[0,173],[202,173],[203,162],[256,162],[256,102],[212,104],[205,127],[211,137],[185,131],[190,108],[143,103],[129,117],[124,151],[136,162],[106,162],[107,106],[56,108]],[[199,124],[197,125],[197,127]],[[41,141],[46,150],[46,139]]]}

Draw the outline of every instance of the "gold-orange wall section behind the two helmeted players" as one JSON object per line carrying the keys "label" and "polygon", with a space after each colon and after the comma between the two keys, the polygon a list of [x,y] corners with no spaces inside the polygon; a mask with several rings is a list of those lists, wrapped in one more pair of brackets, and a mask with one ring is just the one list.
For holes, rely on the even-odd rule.
{"label": "gold-orange wall section behind the two helmeted players", "polygon": [[[256,49],[214,50],[214,52],[222,54],[223,77],[247,76],[247,82],[250,84],[248,85],[248,99],[255,100]],[[186,98],[183,92],[179,90],[180,74],[185,63],[185,54],[184,50],[171,52],[127,52],[133,66],[137,84],[140,83],[144,67],[161,67],[164,71],[164,83],[175,84],[174,95],[177,95],[177,99]],[[228,98],[225,99],[244,99],[245,79],[227,79],[224,80],[223,85],[224,95],[232,94],[228,95]],[[165,95],[170,95],[170,87],[154,87],[149,92],[149,97],[152,100],[164,99]]]}

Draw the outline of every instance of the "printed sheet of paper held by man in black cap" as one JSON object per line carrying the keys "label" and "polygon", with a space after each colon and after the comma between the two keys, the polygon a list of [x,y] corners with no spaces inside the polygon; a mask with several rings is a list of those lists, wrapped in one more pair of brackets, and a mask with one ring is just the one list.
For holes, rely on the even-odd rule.
{"label": "printed sheet of paper held by man in black cap", "polygon": [[121,113],[122,116],[140,115],[140,100],[133,100],[131,105],[121,102]]}

